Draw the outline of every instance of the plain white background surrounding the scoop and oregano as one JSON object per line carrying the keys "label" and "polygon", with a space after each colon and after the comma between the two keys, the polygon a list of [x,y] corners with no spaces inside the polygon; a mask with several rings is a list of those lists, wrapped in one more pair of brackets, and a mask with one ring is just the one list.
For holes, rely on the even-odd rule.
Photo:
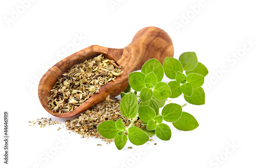
{"label": "plain white background surrounding the scoop and oregano", "polygon": [[[17,0],[0,4],[0,130],[3,136],[7,110],[10,135],[8,165],[0,143],[1,167],[256,167],[254,1],[38,0],[25,6]],[[83,139],[57,126],[29,127],[29,120],[41,117],[64,121],[39,102],[37,85],[46,70],[93,44],[123,48],[146,26],[169,34],[176,59],[195,51],[209,70],[205,105],[184,108],[199,122],[196,130],[178,131],[169,124],[170,141],[154,136],[155,142],[128,143],[119,151],[114,143]],[[62,49],[76,36],[82,36],[81,43],[65,54]],[[185,103],[183,98],[173,102]]]}

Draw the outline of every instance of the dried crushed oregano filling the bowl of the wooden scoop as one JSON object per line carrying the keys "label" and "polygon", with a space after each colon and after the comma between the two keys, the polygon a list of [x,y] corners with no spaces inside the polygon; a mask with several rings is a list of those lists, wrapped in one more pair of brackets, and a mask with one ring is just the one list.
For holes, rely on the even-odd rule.
{"label": "dried crushed oregano filling the bowl of the wooden scoop", "polygon": [[121,67],[102,54],[74,65],[58,78],[48,97],[48,107],[58,113],[70,112],[121,74]]}

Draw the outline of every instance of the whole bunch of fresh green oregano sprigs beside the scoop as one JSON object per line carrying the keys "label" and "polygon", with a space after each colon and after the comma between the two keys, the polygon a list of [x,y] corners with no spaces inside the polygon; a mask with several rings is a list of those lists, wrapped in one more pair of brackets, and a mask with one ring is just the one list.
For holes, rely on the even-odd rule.
{"label": "whole bunch of fresh green oregano sprigs beside the scoop", "polygon": [[[141,72],[129,74],[130,85],[121,93],[120,111],[130,119],[130,125],[125,127],[121,119],[105,121],[97,127],[98,132],[105,138],[114,138],[116,147],[121,150],[127,139],[134,145],[143,145],[148,141],[148,136],[156,134],[158,138],[168,141],[172,132],[163,121],[171,122],[175,128],[183,131],[196,129],[199,126],[197,120],[182,110],[186,104],[164,104],[167,98],[177,98],[182,93],[188,103],[204,104],[205,94],[201,86],[207,73],[195,52],[184,52],[179,60],[165,58],[163,66],[156,59],[148,60]],[[173,80],[162,82],[164,74]],[[137,92],[140,92],[138,96]],[[134,126],[138,118],[146,125],[146,130]]]}

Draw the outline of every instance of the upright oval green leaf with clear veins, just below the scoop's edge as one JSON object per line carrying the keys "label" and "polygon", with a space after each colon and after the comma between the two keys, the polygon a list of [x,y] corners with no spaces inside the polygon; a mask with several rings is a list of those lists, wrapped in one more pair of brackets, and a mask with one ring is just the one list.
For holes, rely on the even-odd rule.
{"label": "upright oval green leaf with clear veins, just below the scoop's edge", "polygon": [[120,102],[120,111],[124,117],[129,119],[134,118],[138,113],[138,109],[138,100],[134,93],[131,92],[123,96]]}

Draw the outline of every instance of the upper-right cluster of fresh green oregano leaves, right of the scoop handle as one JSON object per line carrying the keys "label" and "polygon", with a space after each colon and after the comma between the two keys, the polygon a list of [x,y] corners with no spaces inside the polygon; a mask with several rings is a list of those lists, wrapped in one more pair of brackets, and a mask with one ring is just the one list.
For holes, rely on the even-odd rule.
{"label": "upper-right cluster of fresh green oregano leaves, right of the scoop handle", "polygon": [[[177,98],[182,93],[184,99],[191,104],[202,105],[205,103],[205,93],[201,86],[204,77],[208,74],[207,68],[199,63],[195,52],[184,52],[179,60],[167,57],[163,62],[165,75],[170,79],[168,86],[172,91],[170,98]],[[186,72],[186,75],[183,73]]]}

